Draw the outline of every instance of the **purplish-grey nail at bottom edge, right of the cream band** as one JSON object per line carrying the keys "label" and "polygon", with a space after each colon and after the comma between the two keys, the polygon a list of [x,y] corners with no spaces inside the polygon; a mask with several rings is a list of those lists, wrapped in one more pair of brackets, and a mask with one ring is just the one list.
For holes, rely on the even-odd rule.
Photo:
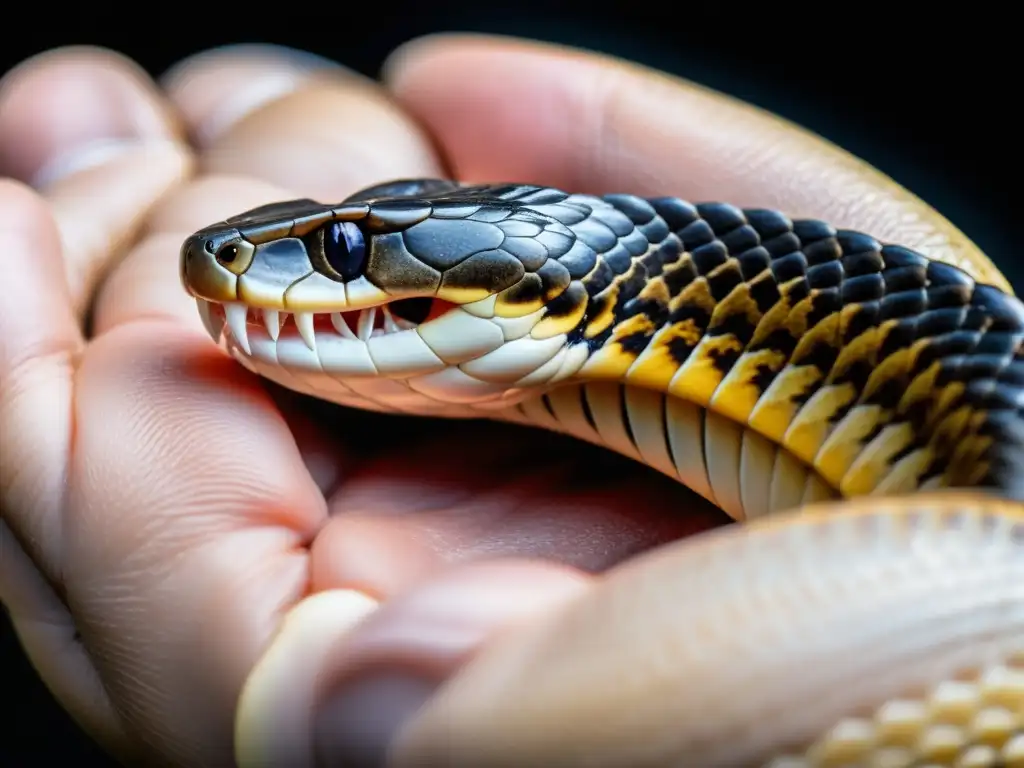
{"label": "purplish-grey nail at bottom edge, right of the cream band", "polygon": [[436,688],[437,681],[395,672],[349,681],[327,700],[313,722],[317,765],[384,766],[392,735]]}

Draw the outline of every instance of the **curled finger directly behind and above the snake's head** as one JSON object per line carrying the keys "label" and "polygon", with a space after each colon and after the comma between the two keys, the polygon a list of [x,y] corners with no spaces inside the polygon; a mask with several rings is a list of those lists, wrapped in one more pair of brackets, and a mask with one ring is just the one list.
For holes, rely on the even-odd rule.
{"label": "curled finger directly behind and above the snake's head", "polygon": [[317,200],[441,173],[419,126],[374,82],[257,51],[258,62],[248,49],[200,54],[169,77],[171,99],[189,116],[191,132],[206,137],[207,173],[257,177]]}

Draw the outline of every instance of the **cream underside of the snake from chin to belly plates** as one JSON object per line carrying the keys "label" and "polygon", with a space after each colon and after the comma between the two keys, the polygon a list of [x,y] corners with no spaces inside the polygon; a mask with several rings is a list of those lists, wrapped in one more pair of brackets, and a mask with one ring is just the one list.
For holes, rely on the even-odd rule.
{"label": "cream underside of the snake from chin to belly plates", "polygon": [[[350,408],[444,418],[490,418],[544,429],[614,451],[663,472],[712,502],[735,520],[839,498],[813,468],[753,429],[714,411],[655,390],[596,381],[558,385],[511,407],[487,398],[484,382],[459,369],[416,380],[378,377],[343,382],[317,371],[286,369],[247,357],[227,344],[246,368],[282,386]],[[466,402],[452,398],[462,384]],[[494,395],[506,389],[495,386]]]}

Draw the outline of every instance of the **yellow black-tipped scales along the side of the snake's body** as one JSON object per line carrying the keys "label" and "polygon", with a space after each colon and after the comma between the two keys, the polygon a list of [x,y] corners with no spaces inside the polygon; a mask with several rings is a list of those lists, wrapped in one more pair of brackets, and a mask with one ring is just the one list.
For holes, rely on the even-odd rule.
{"label": "yellow black-tipped scales along the side of the snake's body", "polygon": [[[697,278],[672,298],[665,276],[675,269],[691,268],[689,259],[689,254],[684,254],[666,269],[665,274],[648,281],[640,297],[667,304],[670,312],[685,306],[700,308],[710,316],[708,328],[701,328],[692,318],[655,328],[646,315],[629,317],[615,326],[608,342],[588,360],[584,367],[588,376],[668,392],[673,395],[669,403],[670,421],[676,422],[673,425],[675,428],[687,432],[701,429],[696,409],[707,409],[705,418],[712,422],[709,426],[720,430],[723,435],[734,433],[735,461],[763,464],[769,453],[774,451],[774,442],[792,454],[788,458],[779,455],[772,473],[776,478],[784,475],[783,463],[796,460],[796,463],[812,467],[844,496],[897,493],[912,487],[920,482],[922,474],[937,456],[948,453],[950,445],[956,447],[953,449],[947,476],[940,484],[970,479],[949,474],[955,473],[957,464],[972,467],[972,474],[984,472],[985,467],[979,466],[978,457],[987,447],[988,440],[976,434],[982,415],[970,409],[946,414],[961,394],[961,385],[949,384],[937,391],[935,378],[938,364],[906,381],[908,372],[927,348],[929,340],[919,341],[880,359],[880,350],[888,334],[898,325],[897,321],[888,321],[866,329],[850,343],[842,345],[848,328],[861,308],[858,305],[846,306],[810,327],[809,316],[821,292],[812,290],[794,302],[792,295],[804,285],[804,276],[780,285],[779,301],[763,314],[753,292],[760,281],[774,279],[770,270],[763,271],[750,283],[737,285],[728,296],[716,301],[709,281],[723,270],[738,268],[735,259],[726,261],[707,276]],[[604,299],[604,308],[600,314],[590,318],[585,332],[587,338],[600,335],[611,325],[620,285],[630,279],[635,268],[636,262],[599,294],[597,298]],[[750,345],[744,345],[731,334],[712,336],[707,333],[737,314],[756,328]],[[581,315],[573,316],[582,316],[582,311]],[[566,319],[558,328],[568,325]],[[745,346],[758,345],[779,330],[799,339],[792,355],[770,348],[743,351]],[[639,355],[624,350],[621,344],[615,343],[636,334],[651,337]],[[672,352],[673,347],[680,344],[690,348],[682,365],[677,362]],[[799,364],[818,344],[837,350],[836,362],[827,374],[822,374],[815,366]],[[726,373],[716,365],[716,357],[723,352],[741,353]],[[849,383],[837,383],[857,364],[866,364],[871,368],[868,381],[859,393]],[[765,370],[774,378],[761,392],[757,380]],[[905,387],[895,410],[866,402],[882,386],[893,381]],[[799,398],[811,390],[816,391],[801,404]],[[928,424],[935,428],[934,436],[929,444],[918,447],[893,464],[894,457],[910,446],[915,435],[908,424],[891,422],[894,416],[905,415],[923,399],[929,402]],[[836,415],[844,409],[848,413],[833,424]],[[743,426],[749,426],[766,440],[759,442],[751,439],[750,435],[744,438]],[[865,445],[863,441],[871,434],[874,436]],[[966,439],[968,437],[971,439]],[[725,455],[732,454],[726,452]],[[664,464],[665,461],[657,463]],[[740,477],[749,478],[748,482],[763,483],[764,480],[753,479],[758,474],[739,472]],[[799,473],[796,476],[799,477]],[[690,478],[687,484],[716,503],[723,502],[713,498],[707,478]],[[775,492],[791,497],[796,493],[784,488],[776,488]],[[758,498],[759,495],[764,498],[766,488],[751,487],[745,493],[741,489],[737,493],[748,499]],[[767,493],[770,495],[772,489],[767,489]],[[739,506],[737,500],[728,502],[731,503],[725,506]]]}

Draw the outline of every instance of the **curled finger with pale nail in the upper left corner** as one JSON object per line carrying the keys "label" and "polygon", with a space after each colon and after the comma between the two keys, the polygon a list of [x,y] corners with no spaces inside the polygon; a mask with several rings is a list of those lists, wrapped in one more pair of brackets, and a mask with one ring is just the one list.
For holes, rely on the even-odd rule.
{"label": "curled finger with pale nail in the upper left corner", "polygon": [[189,172],[174,113],[124,57],[65,48],[0,81],[0,173],[50,202],[82,317],[150,207]]}

